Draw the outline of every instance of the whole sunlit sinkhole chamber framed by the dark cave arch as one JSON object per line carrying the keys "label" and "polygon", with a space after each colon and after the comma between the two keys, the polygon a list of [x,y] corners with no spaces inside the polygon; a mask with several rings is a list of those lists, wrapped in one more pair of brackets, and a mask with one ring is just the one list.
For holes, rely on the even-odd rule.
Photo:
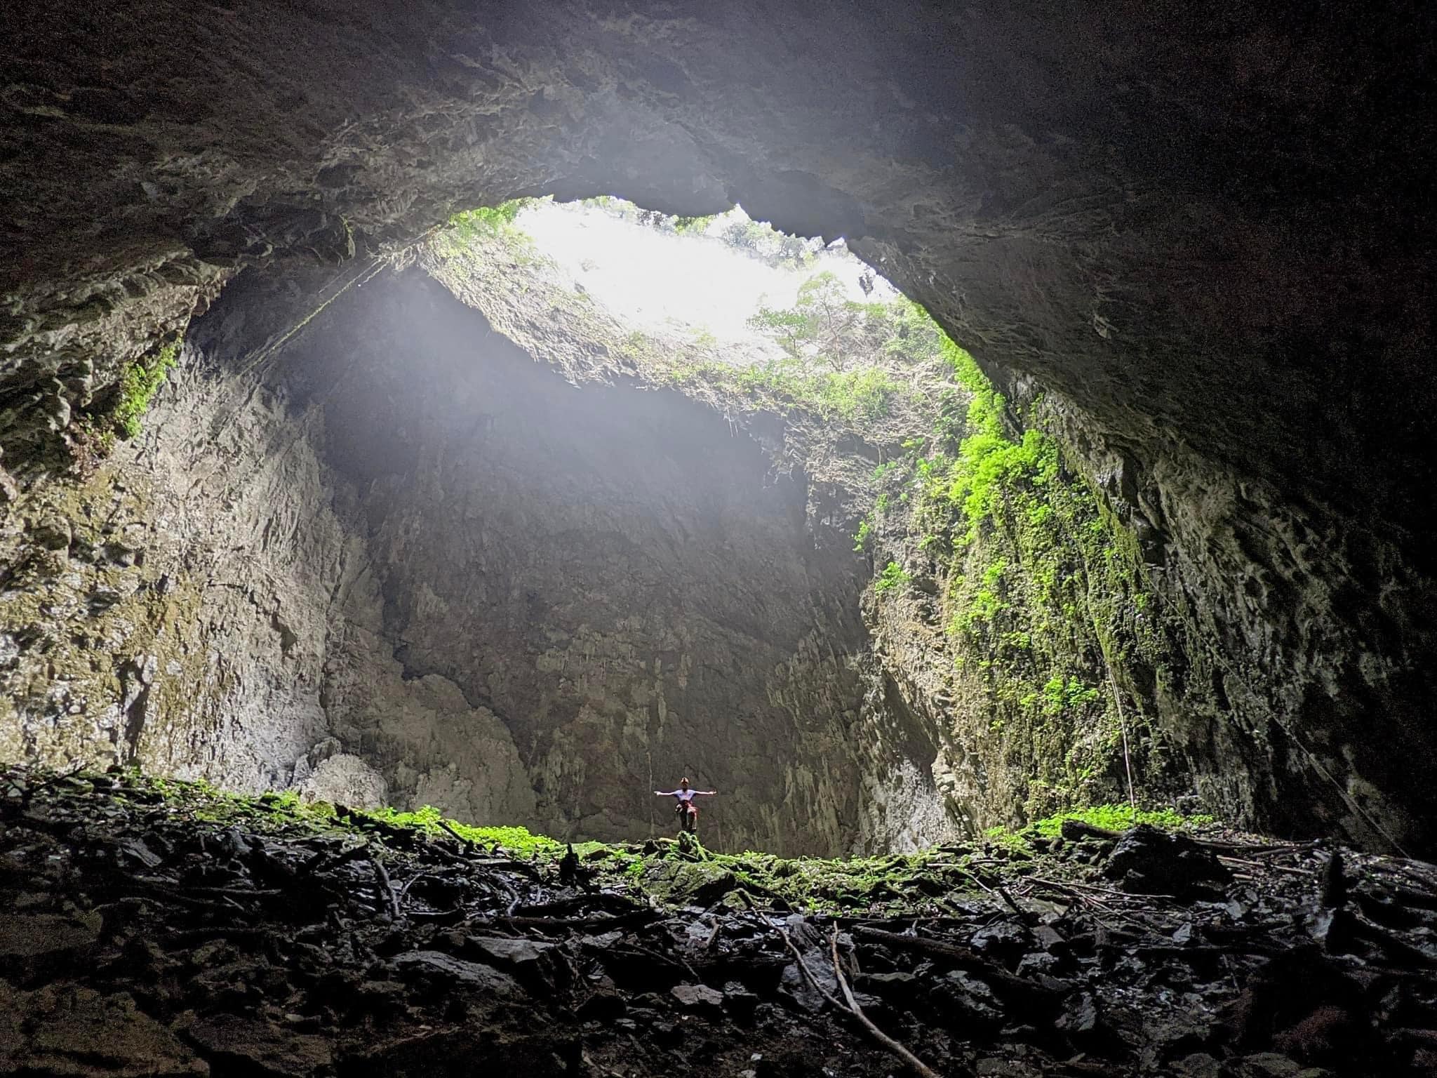
{"label": "whole sunlit sinkhole chamber framed by the dark cave arch", "polygon": [[26,756],[563,841],[688,778],[777,854],[1183,808],[1131,536],[862,253],[523,198],[241,276],[92,417],[149,523],[65,585]]}

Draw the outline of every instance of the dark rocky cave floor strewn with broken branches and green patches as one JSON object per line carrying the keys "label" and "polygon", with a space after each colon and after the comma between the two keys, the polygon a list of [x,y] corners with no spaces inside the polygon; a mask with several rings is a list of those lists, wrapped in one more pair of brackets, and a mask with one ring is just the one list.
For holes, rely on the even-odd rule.
{"label": "dark rocky cave floor strewn with broken branches and green patches", "polygon": [[0,903],[7,1074],[1437,1074],[1437,868],[1219,828],[780,861],[10,768]]}

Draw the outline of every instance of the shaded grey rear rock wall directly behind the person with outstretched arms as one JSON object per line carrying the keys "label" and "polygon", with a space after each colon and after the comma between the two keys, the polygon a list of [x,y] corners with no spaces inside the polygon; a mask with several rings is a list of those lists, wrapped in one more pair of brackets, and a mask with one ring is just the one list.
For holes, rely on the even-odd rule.
{"label": "shaded grey rear rock wall directly behind the person with outstretched arms", "polygon": [[[665,829],[650,791],[687,773],[723,792],[727,845],[858,844],[862,582],[815,552],[803,477],[773,482],[678,394],[576,390],[422,275],[385,289],[296,362],[358,493],[378,650],[497,720],[550,829]],[[331,664],[331,717],[359,732],[342,740],[397,792],[471,780],[463,723],[415,759],[401,746],[433,723],[405,730],[362,663]]]}

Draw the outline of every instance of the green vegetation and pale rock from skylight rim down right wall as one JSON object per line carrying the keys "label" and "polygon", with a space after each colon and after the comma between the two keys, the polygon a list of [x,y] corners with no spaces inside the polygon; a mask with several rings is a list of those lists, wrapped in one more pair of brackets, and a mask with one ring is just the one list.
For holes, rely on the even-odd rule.
{"label": "green vegetation and pale rock from skylight rim down right wall", "polygon": [[[737,216],[678,221],[599,204],[650,227],[701,230],[706,243],[772,253],[780,237]],[[1016,818],[1125,796],[1129,759],[1140,798],[1164,793],[1151,716],[1158,699],[1184,691],[1178,630],[1152,602],[1132,535],[1045,431],[1056,404],[1006,401],[923,308],[851,296],[832,273],[812,273],[792,306],[754,312],[750,325],[779,352],[769,362],[724,362],[703,331],[685,341],[629,332],[542,273],[522,272],[523,244],[503,231],[512,221],[490,221],[496,231],[461,253],[451,275],[463,277],[457,293],[483,296],[477,305],[500,332],[517,325],[514,339],[542,342],[566,369],[589,369],[598,354],[727,415],[785,415],[796,454],[846,467],[855,437],[878,447],[854,549],[872,558],[877,594],[921,589],[921,601],[885,602],[884,617],[947,635],[950,733],[1010,789]],[[793,250],[809,249],[818,250]],[[535,325],[545,302],[591,344],[565,352],[552,319]],[[851,483],[855,493],[865,486]]]}

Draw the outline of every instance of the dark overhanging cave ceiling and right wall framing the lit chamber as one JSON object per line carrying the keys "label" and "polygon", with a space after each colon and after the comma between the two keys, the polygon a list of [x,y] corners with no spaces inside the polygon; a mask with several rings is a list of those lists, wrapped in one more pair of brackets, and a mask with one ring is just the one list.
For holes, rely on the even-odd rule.
{"label": "dark overhanging cave ceiling and right wall framing the lit chamber", "polygon": [[10,559],[72,415],[247,272],[313,289],[516,194],[739,201],[846,237],[1010,400],[1056,405],[1186,624],[1168,726],[1209,806],[1424,848],[1420,34],[1395,9],[1088,16],[34,13],[0,164]]}

